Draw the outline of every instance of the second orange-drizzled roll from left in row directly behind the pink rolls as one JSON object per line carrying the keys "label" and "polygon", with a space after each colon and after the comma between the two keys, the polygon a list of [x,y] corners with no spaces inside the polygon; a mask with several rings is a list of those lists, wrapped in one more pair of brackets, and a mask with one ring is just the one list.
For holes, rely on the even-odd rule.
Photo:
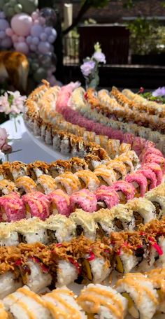
{"label": "second orange-drizzled roll from left in row directly behind the pink rolls", "polygon": [[30,192],[36,192],[36,183],[29,176],[22,176],[15,180],[15,185],[17,187],[17,191],[20,195],[24,195]]}

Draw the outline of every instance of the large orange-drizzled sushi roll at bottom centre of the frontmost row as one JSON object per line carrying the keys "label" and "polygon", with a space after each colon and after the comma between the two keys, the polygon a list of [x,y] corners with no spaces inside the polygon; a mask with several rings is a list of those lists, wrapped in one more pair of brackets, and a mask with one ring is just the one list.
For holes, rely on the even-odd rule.
{"label": "large orange-drizzled sushi roll at bottom centre of the frontmost row", "polygon": [[127,312],[127,299],[113,288],[89,283],[80,292],[78,304],[88,318],[122,319]]}

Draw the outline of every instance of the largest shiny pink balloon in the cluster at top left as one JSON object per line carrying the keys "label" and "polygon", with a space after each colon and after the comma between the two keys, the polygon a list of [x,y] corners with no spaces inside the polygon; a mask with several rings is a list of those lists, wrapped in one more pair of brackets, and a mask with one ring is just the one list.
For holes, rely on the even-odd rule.
{"label": "largest shiny pink balloon in the cluster at top left", "polygon": [[26,13],[18,13],[11,19],[11,27],[18,36],[28,36],[33,24],[30,15]]}

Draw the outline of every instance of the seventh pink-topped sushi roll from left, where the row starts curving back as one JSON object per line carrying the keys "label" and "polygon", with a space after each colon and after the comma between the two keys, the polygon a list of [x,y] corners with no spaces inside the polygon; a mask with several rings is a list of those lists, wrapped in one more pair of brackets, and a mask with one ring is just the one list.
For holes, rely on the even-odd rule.
{"label": "seventh pink-topped sushi roll from left, where the row starts curving back", "polygon": [[142,173],[131,173],[125,178],[125,181],[135,187],[135,197],[143,197],[148,187],[148,180]]}

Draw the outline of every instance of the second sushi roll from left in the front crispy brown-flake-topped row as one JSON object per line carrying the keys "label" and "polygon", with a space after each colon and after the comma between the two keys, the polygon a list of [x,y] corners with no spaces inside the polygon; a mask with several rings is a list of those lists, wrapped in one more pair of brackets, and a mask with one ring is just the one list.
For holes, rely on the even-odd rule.
{"label": "second sushi roll from left in the front crispy brown-flake-topped row", "polygon": [[38,257],[29,257],[25,262],[17,260],[16,267],[20,272],[22,283],[34,292],[40,292],[52,283],[49,268]]}

